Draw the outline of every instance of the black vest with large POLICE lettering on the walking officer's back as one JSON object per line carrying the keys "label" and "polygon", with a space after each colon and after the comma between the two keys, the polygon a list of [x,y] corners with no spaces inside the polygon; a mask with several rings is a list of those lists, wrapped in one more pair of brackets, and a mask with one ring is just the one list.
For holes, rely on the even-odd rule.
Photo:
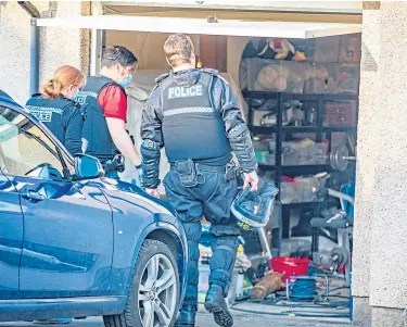
{"label": "black vest with large POLICE lettering on the walking officer's back", "polygon": [[230,143],[221,113],[211,103],[211,86],[216,71],[200,71],[196,83],[183,87],[171,75],[163,76],[163,138],[169,162],[192,159],[201,163],[226,164]]}

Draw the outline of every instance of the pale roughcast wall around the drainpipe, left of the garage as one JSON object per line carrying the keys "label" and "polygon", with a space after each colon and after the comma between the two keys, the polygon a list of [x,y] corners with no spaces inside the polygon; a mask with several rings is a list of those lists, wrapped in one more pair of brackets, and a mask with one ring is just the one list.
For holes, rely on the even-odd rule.
{"label": "pale roughcast wall around the drainpipe, left of the garage", "polygon": [[[90,2],[33,1],[41,17],[75,17],[90,14]],[[40,28],[40,81],[60,65],[89,70],[88,30]],[[0,3],[0,89],[17,102],[29,97],[30,16],[15,1]]]}

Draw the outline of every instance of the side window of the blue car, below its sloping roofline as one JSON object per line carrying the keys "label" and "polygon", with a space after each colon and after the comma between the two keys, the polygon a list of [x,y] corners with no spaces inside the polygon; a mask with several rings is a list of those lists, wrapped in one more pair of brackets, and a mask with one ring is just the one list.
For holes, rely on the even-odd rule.
{"label": "side window of the blue car, below its sloping roofline", "polygon": [[7,174],[62,179],[61,160],[52,141],[26,116],[2,105],[0,156]]}

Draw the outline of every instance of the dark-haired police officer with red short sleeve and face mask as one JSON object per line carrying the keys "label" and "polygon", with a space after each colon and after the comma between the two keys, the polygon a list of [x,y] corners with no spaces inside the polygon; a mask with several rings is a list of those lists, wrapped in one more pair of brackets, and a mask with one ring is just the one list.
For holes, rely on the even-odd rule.
{"label": "dark-haired police officer with red short sleeve and face mask", "polygon": [[[88,141],[86,153],[98,158],[102,165],[120,153],[141,168],[140,155],[125,127],[127,96],[124,88],[130,83],[137,63],[137,58],[125,47],[107,47],[100,74],[88,77],[77,96],[87,110],[82,134]],[[118,178],[117,172],[107,176]]]}

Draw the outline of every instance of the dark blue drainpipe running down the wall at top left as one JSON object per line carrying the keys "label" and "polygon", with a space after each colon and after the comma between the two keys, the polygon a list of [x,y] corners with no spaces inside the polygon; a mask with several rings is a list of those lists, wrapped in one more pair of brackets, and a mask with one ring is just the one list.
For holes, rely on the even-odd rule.
{"label": "dark blue drainpipe running down the wall at top left", "polygon": [[39,90],[39,27],[37,18],[40,17],[38,9],[29,1],[17,1],[18,4],[31,16],[30,46],[29,46],[29,92]]}

